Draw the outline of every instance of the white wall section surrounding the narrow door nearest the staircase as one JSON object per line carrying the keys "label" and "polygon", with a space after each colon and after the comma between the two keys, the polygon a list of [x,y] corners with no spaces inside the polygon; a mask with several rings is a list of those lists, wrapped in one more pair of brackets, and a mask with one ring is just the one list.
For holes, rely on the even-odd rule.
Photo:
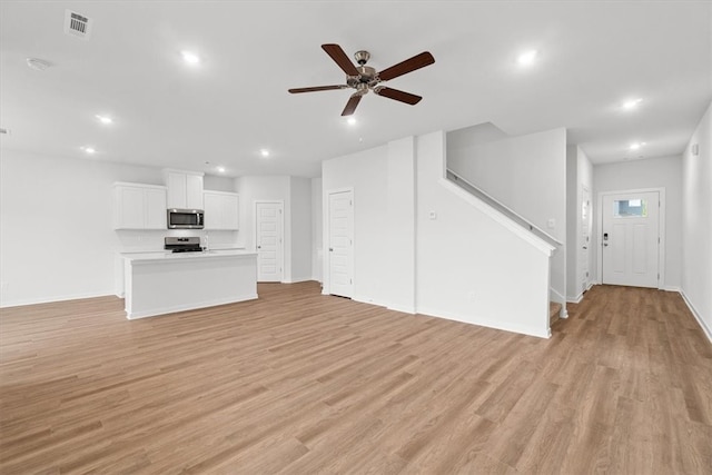
{"label": "white wall section surrounding the narrow door nearest the staircase", "polygon": [[[325,160],[322,164],[324,188],[324,243],[328,243],[327,194],[354,189],[354,299],[387,305],[389,250],[388,229],[388,147]],[[324,279],[328,285],[325,256]]]}

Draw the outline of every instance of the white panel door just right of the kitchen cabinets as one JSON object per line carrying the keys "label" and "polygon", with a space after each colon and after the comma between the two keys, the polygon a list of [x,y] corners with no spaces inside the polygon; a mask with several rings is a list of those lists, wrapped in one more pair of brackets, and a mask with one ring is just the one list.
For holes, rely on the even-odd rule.
{"label": "white panel door just right of the kitchen cabinets", "polygon": [[284,278],[284,205],[280,201],[255,204],[255,248],[257,280],[279,283]]}

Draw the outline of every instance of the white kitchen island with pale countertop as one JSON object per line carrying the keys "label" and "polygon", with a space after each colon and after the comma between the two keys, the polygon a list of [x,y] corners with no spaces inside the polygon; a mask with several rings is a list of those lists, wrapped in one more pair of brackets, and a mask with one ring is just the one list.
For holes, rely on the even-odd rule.
{"label": "white kitchen island with pale countertop", "polygon": [[257,298],[257,254],[245,250],[123,256],[129,319]]}

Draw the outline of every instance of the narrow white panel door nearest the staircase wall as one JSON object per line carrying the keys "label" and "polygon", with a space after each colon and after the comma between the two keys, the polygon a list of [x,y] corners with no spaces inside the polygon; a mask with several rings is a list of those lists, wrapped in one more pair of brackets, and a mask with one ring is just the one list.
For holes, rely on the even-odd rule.
{"label": "narrow white panel door nearest the staircase wall", "polygon": [[329,294],[352,297],[354,291],[354,194],[329,194]]}

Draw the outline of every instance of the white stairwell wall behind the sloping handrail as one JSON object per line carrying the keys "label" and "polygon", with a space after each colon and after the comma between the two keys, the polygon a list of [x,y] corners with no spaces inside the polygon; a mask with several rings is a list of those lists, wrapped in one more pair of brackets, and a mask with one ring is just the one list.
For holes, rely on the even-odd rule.
{"label": "white stairwell wall behind the sloping handrail", "polygon": [[[566,130],[447,144],[447,167],[564,243],[552,258],[552,299],[566,297]],[[550,220],[554,227],[550,227]]]}

